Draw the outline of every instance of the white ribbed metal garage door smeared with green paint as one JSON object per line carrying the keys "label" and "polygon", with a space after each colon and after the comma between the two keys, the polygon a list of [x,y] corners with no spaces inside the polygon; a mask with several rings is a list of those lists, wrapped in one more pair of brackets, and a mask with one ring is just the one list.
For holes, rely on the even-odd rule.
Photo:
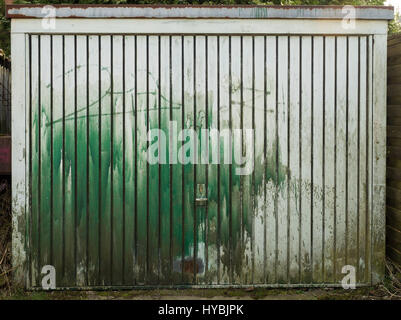
{"label": "white ribbed metal garage door smeared with green paint", "polygon": [[[333,284],[346,264],[369,281],[371,36],[27,45],[32,286],[47,264],[58,287]],[[171,121],[250,174],[212,155],[180,163],[192,140],[171,134],[166,163],[149,163],[148,131]]]}

